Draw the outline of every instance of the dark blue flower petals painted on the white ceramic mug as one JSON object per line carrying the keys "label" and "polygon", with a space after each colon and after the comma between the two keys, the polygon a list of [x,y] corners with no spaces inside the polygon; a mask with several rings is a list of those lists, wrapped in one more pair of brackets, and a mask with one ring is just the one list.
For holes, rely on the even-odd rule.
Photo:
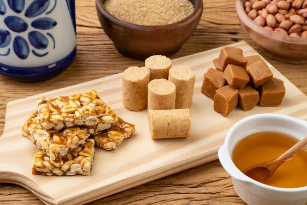
{"label": "dark blue flower petals painted on the white ceramic mug", "polygon": [[[9,8],[6,7],[4,1],[7,1]],[[50,6],[51,9],[45,13],[46,15],[52,13],[55,9],[57,0],[55,0],[54,5],[50,5],[50,2],[50,0],[33,0],[26,9],[25,16],[22,16],[20,13],[25,9],[25,0],[0,0],[0,15],[5,15],[7,9],[11,9],[16,13],[16,15],[9,15],[4,18],[4,23],[9,30],[0,28],[0,48],[6,48],[12,43],[15,55],[20,59],[26,59],[30,55],[30,44],[34,48],[31,50],[33,55],[37,57],[48,55],[48,52],[38,53],[37,51],[44,50],[48,47],[49,39],[47,36],[50,37],[51,42],[53,43],[53,49],[55,48],[53,35],[50,32],[43,32],[53,29],[57,25],[57,22],[50,17],[39,17],[41,14],[44,14]],[[23,17],[35,19],[32,20],[31,25],[28,25]],[[28,31],[30,26],[38,31]],[[20,35],[16,35],[16,37],[12,39],[11,32],[28,32],[28,39],[25,39]],[[9,54],[10,48],[8,48],[6,53],[0,53],[0,56],[7,56]]]}

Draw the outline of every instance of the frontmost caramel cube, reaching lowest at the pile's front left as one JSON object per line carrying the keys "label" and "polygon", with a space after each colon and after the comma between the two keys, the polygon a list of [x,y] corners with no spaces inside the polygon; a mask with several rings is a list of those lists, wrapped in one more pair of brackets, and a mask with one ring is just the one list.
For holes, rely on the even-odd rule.
{"label": "frontmost caramel cube, reaching lowest at the pile's front left", "polygon": [[227,117],[238,105],[238,90],[225,86],[216,90],[213,108],[215,112]]}

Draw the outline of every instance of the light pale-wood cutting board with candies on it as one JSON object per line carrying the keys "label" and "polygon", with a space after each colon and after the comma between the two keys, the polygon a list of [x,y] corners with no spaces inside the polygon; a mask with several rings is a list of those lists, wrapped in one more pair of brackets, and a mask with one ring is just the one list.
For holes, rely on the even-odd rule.
{"label": "light pale-wood cutting board with candies on it", "polygon": [[[245,42],[231,46],[242,48],[245,56],[258,54]],[[122,105],[121,73],[8,103],[5,129],[0,138],[0,182],[23,186],[47,204],[86,203],[217,159],[217,150],[223,145],[227,131],[249,115],[279,113],[307,119],[307,96],[267,61],[274,76],[282,79],[286,86],[280,107],[257,106],[248,112],[236,108],[227,118],[214,112],[213,101],[200,90],[203,74],[213,67],[212,60],[220,50],[216,48],[172,60],[173,65],[189,66],[196,73],[189,138],[151,140],[147,111],[131,112]],[[91,176],[32,175],[36,147],[21,135],[20,126],[36,108],[36,98],[90,89],[97,90],[118,116],[136,125],[135,135],[113,152],[97,148]]]}

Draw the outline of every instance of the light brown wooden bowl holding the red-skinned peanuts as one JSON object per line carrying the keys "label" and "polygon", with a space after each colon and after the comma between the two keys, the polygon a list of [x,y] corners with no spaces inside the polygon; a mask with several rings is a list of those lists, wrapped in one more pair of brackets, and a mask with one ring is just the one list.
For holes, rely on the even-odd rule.
{"label": "light brown wooden bowl holding the red-skinned peanuts", "polygon": [[292,64],[307,63],[307,37],[293,37],[267,30],[254,24],[244,10],[247,0],[237,0],[236,12],[240,24],[258,45],[259,49],[271,58]]}

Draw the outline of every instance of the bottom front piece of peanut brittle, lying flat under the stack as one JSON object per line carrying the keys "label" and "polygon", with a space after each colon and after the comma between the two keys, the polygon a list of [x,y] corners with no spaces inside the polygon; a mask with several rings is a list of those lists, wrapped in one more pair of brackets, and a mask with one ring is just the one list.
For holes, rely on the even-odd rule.
{"label": "bottom front piece of peanut brittle, lying flat under the stack", "polygon": [[52,160],[41,149],[34,156],[32,174],[47,176],[90,175],[95,152],[94,139],[86,139],[84,145],[62,159]]}

